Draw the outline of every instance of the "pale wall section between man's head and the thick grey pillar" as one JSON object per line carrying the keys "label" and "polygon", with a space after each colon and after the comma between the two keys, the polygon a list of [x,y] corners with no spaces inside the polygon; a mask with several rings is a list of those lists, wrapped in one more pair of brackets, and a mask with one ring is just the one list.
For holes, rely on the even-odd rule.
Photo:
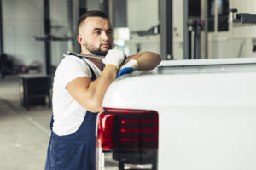
{"label": "pale wall section between man's head and the thick grey pillar", "polygon": [[158,0],[128,0],[127,22],[130,29],[128,42],[130,54],[137,54],[137,46],[141,52],[152,51],[160,54],[160,35],[139,37],[134,31],[147,31],[159,24]]}

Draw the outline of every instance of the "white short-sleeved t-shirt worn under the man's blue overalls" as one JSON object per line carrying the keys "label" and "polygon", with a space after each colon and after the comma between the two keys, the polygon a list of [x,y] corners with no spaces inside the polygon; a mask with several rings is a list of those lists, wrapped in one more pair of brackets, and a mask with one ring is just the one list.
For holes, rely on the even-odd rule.
{"label": "white short-sleeved t-shirt worn under the man's blue overalls", "polygon": [[[102,74],[102,71],[90,60],[83,59],[90,65],[96,77]],[[76,132],[84,121],[86,109],[79,105],[65,88],[67,83],[75,78],[91,78],[90,68],[83,59],[69,55],[61,60],[55,72],[52,98],[54,114],[53,131],[59,136]]]}

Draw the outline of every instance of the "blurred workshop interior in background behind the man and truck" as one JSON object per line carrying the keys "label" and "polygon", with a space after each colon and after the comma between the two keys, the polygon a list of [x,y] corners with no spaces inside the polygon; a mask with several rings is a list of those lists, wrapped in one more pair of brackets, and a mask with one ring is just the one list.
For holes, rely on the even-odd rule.
{"label": "blurred workshop interior in background behind the man and truck", "polygon": [[77,20],[90,10],[108,14],[127,56],[256,58],[255,0],[0,0],[0,169],[44,169],[55,70],[80,53]]}

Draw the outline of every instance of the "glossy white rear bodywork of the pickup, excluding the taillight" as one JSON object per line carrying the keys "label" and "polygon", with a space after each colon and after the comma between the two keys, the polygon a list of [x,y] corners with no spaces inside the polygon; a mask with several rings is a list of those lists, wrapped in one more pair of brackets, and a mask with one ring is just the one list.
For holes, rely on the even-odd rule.
{"label": "glossy white rear bodywork of the pickup, excluding the taillight", "polygon": [[103,107],[159,113],[159,170],[256,169],[256,72],[170,71],[113,82]]}

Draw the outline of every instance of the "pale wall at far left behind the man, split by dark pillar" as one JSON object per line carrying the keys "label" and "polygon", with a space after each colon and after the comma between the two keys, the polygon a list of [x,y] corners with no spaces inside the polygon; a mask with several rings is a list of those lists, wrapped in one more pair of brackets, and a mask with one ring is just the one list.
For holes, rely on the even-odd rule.
{"label": "pale wall at far left behind the man, split by dark pillar", "polygon": [[[71,37],[68,24],[67,1],[50,0],[51,34],[55,37]],[[3,0],[3,49],[19,65],[38,62],[45,72],[43,0]],[[51,63],[56,66],[72,49],[71,41],[51,42]]]}

